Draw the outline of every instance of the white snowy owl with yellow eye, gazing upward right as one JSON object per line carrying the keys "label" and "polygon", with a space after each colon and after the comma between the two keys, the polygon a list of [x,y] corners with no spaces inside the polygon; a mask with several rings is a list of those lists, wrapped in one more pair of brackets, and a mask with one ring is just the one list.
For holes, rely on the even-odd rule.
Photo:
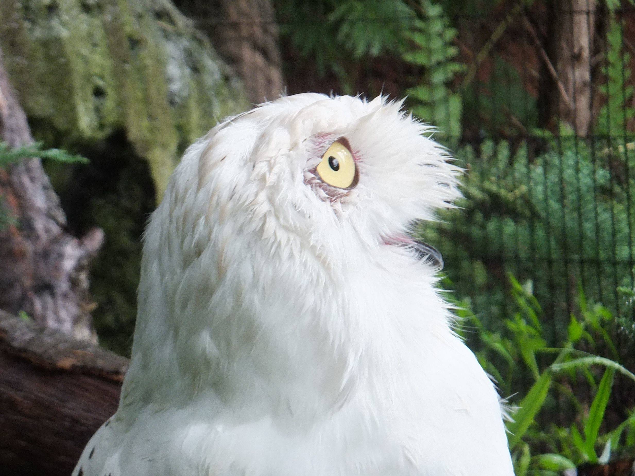
{"label": "white snowy owl with yellow eye, gazing upward right", "polygon": [[74,476],[513,475],[440,257],[408,237],[459,170],[401,107],[283,97],[185,152],[119,409]]}

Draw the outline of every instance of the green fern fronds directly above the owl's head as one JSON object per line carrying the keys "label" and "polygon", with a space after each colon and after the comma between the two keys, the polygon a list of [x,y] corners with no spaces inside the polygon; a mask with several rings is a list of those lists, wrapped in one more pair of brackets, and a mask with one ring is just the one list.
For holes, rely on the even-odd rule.
{"label": "green fern fronds directly above the owl's head", "polygon": [[[461,132],[462,100],[451,83],[464,65],[453,45],[457,30],[443,6],[432,0],[278,1],[281,35],[320,76],[335,72],[349,93],[361,62],[398,55],[414,71],[405,91],[413,113],[439,129],[443,138]],[[322,18],[302,21],[305,18]]]}

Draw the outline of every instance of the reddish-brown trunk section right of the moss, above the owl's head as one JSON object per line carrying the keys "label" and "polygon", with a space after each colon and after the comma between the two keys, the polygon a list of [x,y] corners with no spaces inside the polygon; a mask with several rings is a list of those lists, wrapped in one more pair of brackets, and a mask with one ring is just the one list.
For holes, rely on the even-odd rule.
{"label": "reddish-brown trunk section right of the moss, above the owl's head", "polygon": [[283,93],[278,29],[271,0],[215,0],[218,23],[208,29],[212,43],[243,79],[251,102]]}

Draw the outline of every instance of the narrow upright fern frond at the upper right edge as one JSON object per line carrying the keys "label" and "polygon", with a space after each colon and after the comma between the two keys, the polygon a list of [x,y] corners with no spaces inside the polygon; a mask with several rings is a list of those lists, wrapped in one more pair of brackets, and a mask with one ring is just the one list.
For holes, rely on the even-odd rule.
{"label": "narrow upright fern frond at the upper right edge", "polygon": [[598,114],[594,128],[601,135],[624,135],[627,122],[635,117],[632,107],[631,55],[623,51],[624,21],[610,20],[606,32],[606,60],[603,73],[606,83],[599,86],[606,103]]}

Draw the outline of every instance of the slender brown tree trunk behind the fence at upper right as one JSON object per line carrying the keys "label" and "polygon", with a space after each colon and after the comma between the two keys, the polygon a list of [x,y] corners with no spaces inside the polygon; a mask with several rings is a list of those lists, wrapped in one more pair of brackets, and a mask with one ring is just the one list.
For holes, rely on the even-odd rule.
{"label": "slender brown tree trunk behind the fence at upper right", "polygon": [[589,133],[592,121],[591,55],[595,0],[558,0],[553,53],[560,84],[556,116],[572,124],[578,136]]}

